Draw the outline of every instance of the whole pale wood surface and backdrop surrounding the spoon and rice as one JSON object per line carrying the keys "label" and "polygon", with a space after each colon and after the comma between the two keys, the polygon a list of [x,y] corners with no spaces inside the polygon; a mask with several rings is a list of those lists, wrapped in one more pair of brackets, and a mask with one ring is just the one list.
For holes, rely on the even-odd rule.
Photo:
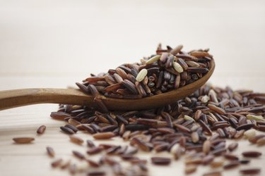
{"label": "whole pale wood surface and backdrop surrounding the spoon and rice", "polygon": [[[220,87],[265,92],[264,1],[0,1],[0,90],[29,87],[66,88],[125,62],[149,56],[158,42],[184,50],[210,47],[216,70],[210,82]],[[0,111],[0,175],[68,175],[50,167],[45,147],[58,157],[85,151],[60,132],[52,120],[56,104]],[[45,134],[37,136],[40,125]],[[33,144],[13,144],[13,137],[35,137]],[[78,133],[83,139],[90,135]],[[124,144],[119,139],[106,143]],[[229,144],[230,141],[228,141]],[[98,142],[97,142],[98,143]],[[235,153],[263,151],[240,140]],[[167,153],[139,153],[142,158]],[[98,157],[98,156],[95,156]],[[80,163],[81,164],[81,163]],[[247,166],[263,168],[265,156]],[[150,166],[150,175],[184,175],[183,159],[168,167]],[[193,175],[209,171],[199,167]],[[239,175],[238,170],[223,175]]]}

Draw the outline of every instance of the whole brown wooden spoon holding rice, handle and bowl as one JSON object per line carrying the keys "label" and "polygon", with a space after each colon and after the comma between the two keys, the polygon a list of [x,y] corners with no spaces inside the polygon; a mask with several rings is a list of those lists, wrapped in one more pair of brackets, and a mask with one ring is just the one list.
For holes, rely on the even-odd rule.
{"label": "whole brown wooden spoon holding rice, handle and bowl", "polygon": [[[140,110],[164,106],[182,99],[185,96],[189,96],[195,92],[196,89],[199,89],[211,77],[214,68],[215,63],[211,60],[210,70],[204,77],[184,87],[163,94],[148,96],[143,99],[111,99],[105,96],[100,96],[100,99],[102,99],[110,110]],[[14,89],[0,92],[0,110],[37,103],[96,106],[93,99],[93,96],[85,94],[79,89]]]}

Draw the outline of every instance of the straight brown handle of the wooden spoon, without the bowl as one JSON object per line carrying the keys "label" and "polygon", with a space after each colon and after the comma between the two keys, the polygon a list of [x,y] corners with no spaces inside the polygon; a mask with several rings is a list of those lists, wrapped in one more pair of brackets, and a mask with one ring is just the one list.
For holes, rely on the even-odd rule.
{"label": "straight brown handle of the wooden spoon, without the bowl", "polygon": [[78,89],[14,89],[0,91],[0,110],[37,103],[92,105],[93,97]]}

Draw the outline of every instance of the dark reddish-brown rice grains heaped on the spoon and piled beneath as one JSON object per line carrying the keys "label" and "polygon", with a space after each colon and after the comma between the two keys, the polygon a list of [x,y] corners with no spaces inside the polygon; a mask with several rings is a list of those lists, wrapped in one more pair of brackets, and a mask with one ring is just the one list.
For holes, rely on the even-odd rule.
{"label": "dark reddish-brown rice grains heaped on the spoon and piled beneath", "polygon": [[[223,170],[233,168],[244,168],[239,169],[240,175],[259,175],[261,168],[245,168],[245,165],[262,153],[246,150],[238,156],[233,151],[237,149],[237,139],[248,139],[251,144],[264,146],[265,94],[206,84],[175,103],[143,111],[109,111],[100,101],[99,95],[139,99],[178,89],[203,77],[211,66],[211,59],[208,49],[184,52],[182,45],[175,49],[170,46],[161,49],[159,45],[156,54],[141,59],[141,63],[126,63],[76,83],[83,92],[95,97],[98,107],[61,104],[51,117],[69,123],[60,128],[69,134],[71,142],[83,145],[84,140],[76,135],[81,131],[102,144],[87,140],[86,153],[72,151],[74,157],[86,163],[85,168],[61,158],[53,161],[52,167],[88,176],[144,176],[149,175],[148,162],[166,168],[183,157],[183,172],[187,175],[196,172],[200,165],[213,168],[204,176],[222,175]],[[45,126],[41,126],[37,133],[44,131]],[[123,139],[128,145],[110,144],[107,139],[111,138]],[[234,139],[234,142],[228,145],[226,139]],[[14,140],[21,142],[21,139]],[[22,139],[25,141],[33,139]],[[138,151],[152,152],[151,161],[139,158]],[[166,157],[160,157],[160,152],[167,152]],[[47,147],[47,153],[54,157],[52,147]],[[160,153],[159,157],[155,153]],[[90,158],[95,154],[101,156],[98,161]]]}

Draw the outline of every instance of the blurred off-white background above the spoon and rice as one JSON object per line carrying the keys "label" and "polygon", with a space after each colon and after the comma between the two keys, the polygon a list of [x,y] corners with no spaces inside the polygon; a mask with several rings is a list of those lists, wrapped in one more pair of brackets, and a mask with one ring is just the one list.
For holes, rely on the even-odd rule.
{"label": "blurred off-white background above the spoon and rice", "polygon": [[[264,91],[264,1],[0,1],[0,77],[76,81],[155,52],[210,48],[213,84]],[[19,80],[19,79],[18,79]],[[30,87],[23,80],[19,87]],[[19,88],[8,80],[0,89]],[[45,80],[39,87],[65,87]]]}

